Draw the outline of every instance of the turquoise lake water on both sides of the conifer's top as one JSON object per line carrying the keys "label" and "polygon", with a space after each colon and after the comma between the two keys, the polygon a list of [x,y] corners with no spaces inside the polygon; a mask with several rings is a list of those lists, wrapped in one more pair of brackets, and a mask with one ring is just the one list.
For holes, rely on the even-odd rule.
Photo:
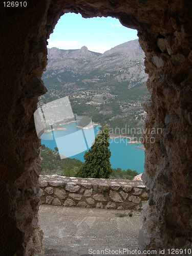
{"label": "turquoise lake water on both sides of the conifer's top", "polygon": [[[48,148],[51,150],[54,150],[54,147],[58,146],[59,142],[59,153],[60,150],[66,150],[69,151],[70,147],[73,148],[73,143],[76,140],[77,137],[75,137],[75,134],[78,134],[81,132],[81,129],[78,129],[75,125],[76,122],[72,122],[66,125],[63,125],[66,130],[55,130],[53,132],[44,133],[41,135],[41,144],[45,144]],[[80,131],[81,130],[81,131]],[[86,132],[86,138],[89,142],[89,130]],[[94,133],[97,134],[97,131],[99,130],[99,126],[94,127]],[[83,133],[84,134],[84,133]],[[68,135],[68,136],[66,136]],[[65,138],[65,143],[62,143],[62,139]],[[68,140],[66,140],[68,138]],[[57,143],[56,143],[57,141]],[[66,141],[68,141],[66,143]],[[77,141],[77,140],[76,140]],[[86,141],[86,145],[87,144]],[[111,150],[111,166],[112,168],[120,167],[121,169],[132,169],[137,170],[138,173],[143,173],[144,170],[144,150],[141,150],[140,148],[137,148],[137,146],[141,146],[142,144],[135,144],[135,143],[128,143],[129,139],[126,138],[116,138],[116,139],[110,139],[110,150]],[[75,144],[75,148],[79,148],[81,143],[78,145],[78,143]],[[69,148],[68,148],[69,147]],[[74,148],[73,148],[74,149]],[[55,151],[55,150],[54,150]],[[79,159],[80,161],[84,162],[83,156],[86,151],[83,151],[79,154],[70,156],[70,158]]]}

